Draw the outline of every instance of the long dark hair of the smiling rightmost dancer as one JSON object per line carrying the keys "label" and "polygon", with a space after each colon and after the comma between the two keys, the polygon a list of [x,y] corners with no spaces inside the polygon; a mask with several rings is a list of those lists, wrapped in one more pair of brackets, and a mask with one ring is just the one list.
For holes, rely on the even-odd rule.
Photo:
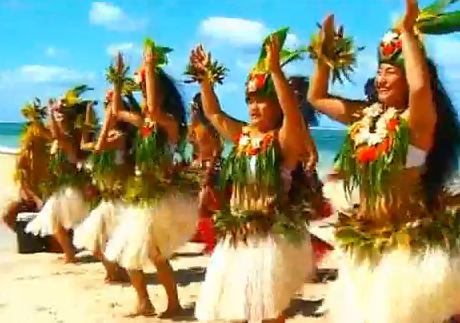
{"label": "long dark hair of the smiling rightmost dancer", "polygon": [[[439,206],[439,194],[446,183],[458,171],[460,156],[460,122],[446,89],[438,76],[436,65],[427,59],[431,91],[436,108],[434,141],[421,175],[422,191],[427,208]],[[374,79],[369,79],[365,94],[370,102],[376,102]]]}

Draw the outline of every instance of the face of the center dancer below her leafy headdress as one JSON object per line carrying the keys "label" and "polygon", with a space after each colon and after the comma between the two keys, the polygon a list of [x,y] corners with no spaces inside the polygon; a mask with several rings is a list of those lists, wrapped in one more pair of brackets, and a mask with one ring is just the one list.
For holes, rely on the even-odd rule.
{"label": "face of the center dancer below her leafy headdress", "polygon": [[250,96],[248,105],[251,124],[259,131],[270,131],[279,125],[283,115],[276,99]]}

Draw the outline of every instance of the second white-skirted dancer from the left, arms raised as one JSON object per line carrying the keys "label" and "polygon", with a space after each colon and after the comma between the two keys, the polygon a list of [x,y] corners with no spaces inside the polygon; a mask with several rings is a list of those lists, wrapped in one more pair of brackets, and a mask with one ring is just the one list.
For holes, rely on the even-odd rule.
{"label": "second white-skirted dancer from the left, arms raised", "polygon": [[[109,71],[108,78],[114,81],[114,88],[106,95],[105,118],[99,137],[95,138],[95,141],[88,141],[88,132],[94,129],[95,120],[92,103],[88,104],[86,110],[86,131],[82,137],[82,149],[92,151],[86,167],[100,192],[101,201],[76,228],[73,240],[77,248],[91,251],[102,261],[106,269],[107,283],[127,280],[126,272],[117,264],[107,261],[103,252],[122,216],[119,211],[123,205],[126,182],[134,175],[134,164],[131,162],[129,151],[135,129],[131,124],[117,122],[112,113],[112,105],[121,104],[132,109],[129,101],[122,98],[122,93],[130,97],[131,101],[135,101],[128,88],[133,81],[124,75],[128,70],[125,69],[121,54],[117,56],[116,68],[111,67]],[[120,109],[115,107],[115,110]]]}

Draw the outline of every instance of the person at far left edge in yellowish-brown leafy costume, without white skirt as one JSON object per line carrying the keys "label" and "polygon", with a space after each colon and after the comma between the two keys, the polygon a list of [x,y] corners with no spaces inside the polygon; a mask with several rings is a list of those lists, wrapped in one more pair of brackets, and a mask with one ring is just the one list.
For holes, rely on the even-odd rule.
{"label": "person at far left edge in yellowish-brown leafy costume, without white skirt", "polygon": [[5,207],[2,219],[13,231],[16,217],[20,212],[37,212],[43,205],[41,183],[48,180],[48,143],[51,133],[43,119],[46,108],[41,107],[40,100],[27,103],[21,110],[26,118],[25,131],[21,137],[21,148],[16,162],[15,180],[19,184],[19,199]]}

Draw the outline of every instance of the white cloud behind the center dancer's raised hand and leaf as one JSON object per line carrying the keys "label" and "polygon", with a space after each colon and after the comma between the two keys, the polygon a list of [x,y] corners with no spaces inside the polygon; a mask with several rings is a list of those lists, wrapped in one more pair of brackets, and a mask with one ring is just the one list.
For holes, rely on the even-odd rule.
{"label": "white cloud behind the center dancer's raised hand and leaf", "polygon": [[[209,17],[199,27],[201,35],[211,41],[239,48],[259,48],[270,29],[260,21],[242,18]],[[295,47],[299,44],[296,35],[289,34],[286,45]]]}

